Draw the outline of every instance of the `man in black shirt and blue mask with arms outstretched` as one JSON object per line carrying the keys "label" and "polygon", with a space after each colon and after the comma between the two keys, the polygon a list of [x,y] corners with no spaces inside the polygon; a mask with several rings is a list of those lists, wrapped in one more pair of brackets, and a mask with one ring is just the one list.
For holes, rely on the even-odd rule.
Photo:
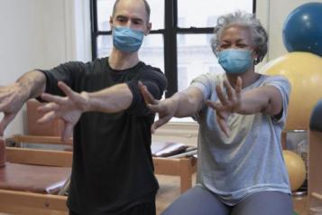
{"label": "man in black shirt and blue mask with arms outstretched", "polygon": [[[1,134],[23,103],[43,92],[62,96],[63,90],[67,98],[54,98],[74,105],[66,115],[49,113],[40,120],[61,117],[63,140],[73,132],[70,214],[155,214],[158,182],[150,132],[154,115],[144,105],[138,81],[161,98],[166,79],[138,57],[143,36],[152,27],[149,16],[145,0],[117,0],[110,19],[114,47],[109,58],[34,70],[0,89],[0,111],[5,114]],[[54,106],[49,103],[42,110]]]}

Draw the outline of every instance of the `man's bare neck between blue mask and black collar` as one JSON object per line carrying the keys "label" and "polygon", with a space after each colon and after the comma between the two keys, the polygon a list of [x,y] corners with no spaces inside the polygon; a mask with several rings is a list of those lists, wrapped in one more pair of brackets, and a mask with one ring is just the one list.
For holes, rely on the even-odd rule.
{"label": "man's bare neck between blue mask and black collar", "polygon": [[139,62],[138,52],[124,53],[113,48],[108,63],[114,70],[125,70],[132,68]]}

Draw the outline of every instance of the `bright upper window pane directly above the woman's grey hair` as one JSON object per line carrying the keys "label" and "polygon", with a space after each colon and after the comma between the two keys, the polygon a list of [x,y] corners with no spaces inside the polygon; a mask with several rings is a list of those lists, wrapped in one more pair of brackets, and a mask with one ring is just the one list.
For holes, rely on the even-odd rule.
{"label": "bright upper window pane directly above the woman's grey hair", "polygon": [[214,27],[219,15],[236,10],[253,13],[253,0],[178,0],[178,26]]}

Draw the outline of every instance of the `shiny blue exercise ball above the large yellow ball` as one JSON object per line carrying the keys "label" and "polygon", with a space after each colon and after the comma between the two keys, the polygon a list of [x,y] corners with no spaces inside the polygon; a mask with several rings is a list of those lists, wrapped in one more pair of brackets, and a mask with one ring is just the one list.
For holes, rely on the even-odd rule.
{"label": "shiny blue exercise ball above the large yellow ball", "polygon": [[288,51],[308,51],[322,56],[322,3],[294,9],[283,24],[283,43]]}

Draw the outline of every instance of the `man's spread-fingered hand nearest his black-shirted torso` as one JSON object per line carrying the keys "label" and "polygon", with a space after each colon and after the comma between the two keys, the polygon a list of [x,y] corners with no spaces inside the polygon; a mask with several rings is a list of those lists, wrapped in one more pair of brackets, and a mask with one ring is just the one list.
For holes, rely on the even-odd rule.
{"label": "man's spread-fingered hand nearest his black-shirted torso", "polygon": [[55,118],[62,119],[64,127],[61,139],[67,142],[73,134],[74,126],[77,124],[79,117],[87,110],[88,96],[86,92],[80,94],[74,92],[63,82],[59,82],[58,86],[67,97],[43,93],[41,98],[50,103],[38,108],[39,111],[44,113],[44,116],[38,120],[38,123],[47,123]]}

